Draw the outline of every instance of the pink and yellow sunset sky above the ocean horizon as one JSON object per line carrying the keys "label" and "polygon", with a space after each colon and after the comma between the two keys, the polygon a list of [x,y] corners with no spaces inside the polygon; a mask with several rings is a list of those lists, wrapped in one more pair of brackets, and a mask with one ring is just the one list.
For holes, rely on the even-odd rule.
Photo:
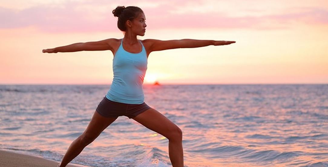
{"label": "pink and yellow sunset sky above the ocean horizon", "polygon": [[236,41],[152,52],[144,84],[328,83],[327,0],[1,0],[0,84],[111,84],[110,50],[42,49],[123,38],[116,6],[144,11],[140,40]]}

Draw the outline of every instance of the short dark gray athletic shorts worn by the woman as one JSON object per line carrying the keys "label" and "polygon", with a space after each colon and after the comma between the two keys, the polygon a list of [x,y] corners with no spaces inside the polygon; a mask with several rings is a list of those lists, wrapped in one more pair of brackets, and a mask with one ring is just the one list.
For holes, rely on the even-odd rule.
{"label": "short dark gray athletic shorts worn by the woman", "polygon": [[105,96],[98,104],[96,111],[104,117],[126,116],[131,119],[150,108],[145,102],[141,104],[127,104],[111,101]]}

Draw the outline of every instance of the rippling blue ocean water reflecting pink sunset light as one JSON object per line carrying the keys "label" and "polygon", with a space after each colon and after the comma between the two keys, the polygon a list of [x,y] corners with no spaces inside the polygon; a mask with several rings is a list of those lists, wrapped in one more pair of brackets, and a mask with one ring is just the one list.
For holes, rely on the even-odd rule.
{"label": "rippling blue ocean water reflecting pink sunset light", "polygon": [[[110,85],[0,85],[0,150],[60,161]],[[144,85],[185,167],[328,166],[328,84]],[[118,117],[71,163],[170,167],[168,139]]]}

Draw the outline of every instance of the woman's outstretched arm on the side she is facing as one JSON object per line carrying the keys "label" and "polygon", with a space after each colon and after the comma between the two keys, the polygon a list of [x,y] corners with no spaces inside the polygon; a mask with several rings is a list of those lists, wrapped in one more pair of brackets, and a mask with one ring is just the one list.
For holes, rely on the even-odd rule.
{"label": "woman's outstretched arm on the side she is facing", "polygon": [[203,47],[209,45],[229,45],[236,43],[235,41],[215,41],[215,40],[195,40],[195,39],[181,39],[181,40],[169,40],[161,41],[155,39],[146,39],[145,42],[149,42],[150,51],[175,49],[175,48],[192,48]]}

